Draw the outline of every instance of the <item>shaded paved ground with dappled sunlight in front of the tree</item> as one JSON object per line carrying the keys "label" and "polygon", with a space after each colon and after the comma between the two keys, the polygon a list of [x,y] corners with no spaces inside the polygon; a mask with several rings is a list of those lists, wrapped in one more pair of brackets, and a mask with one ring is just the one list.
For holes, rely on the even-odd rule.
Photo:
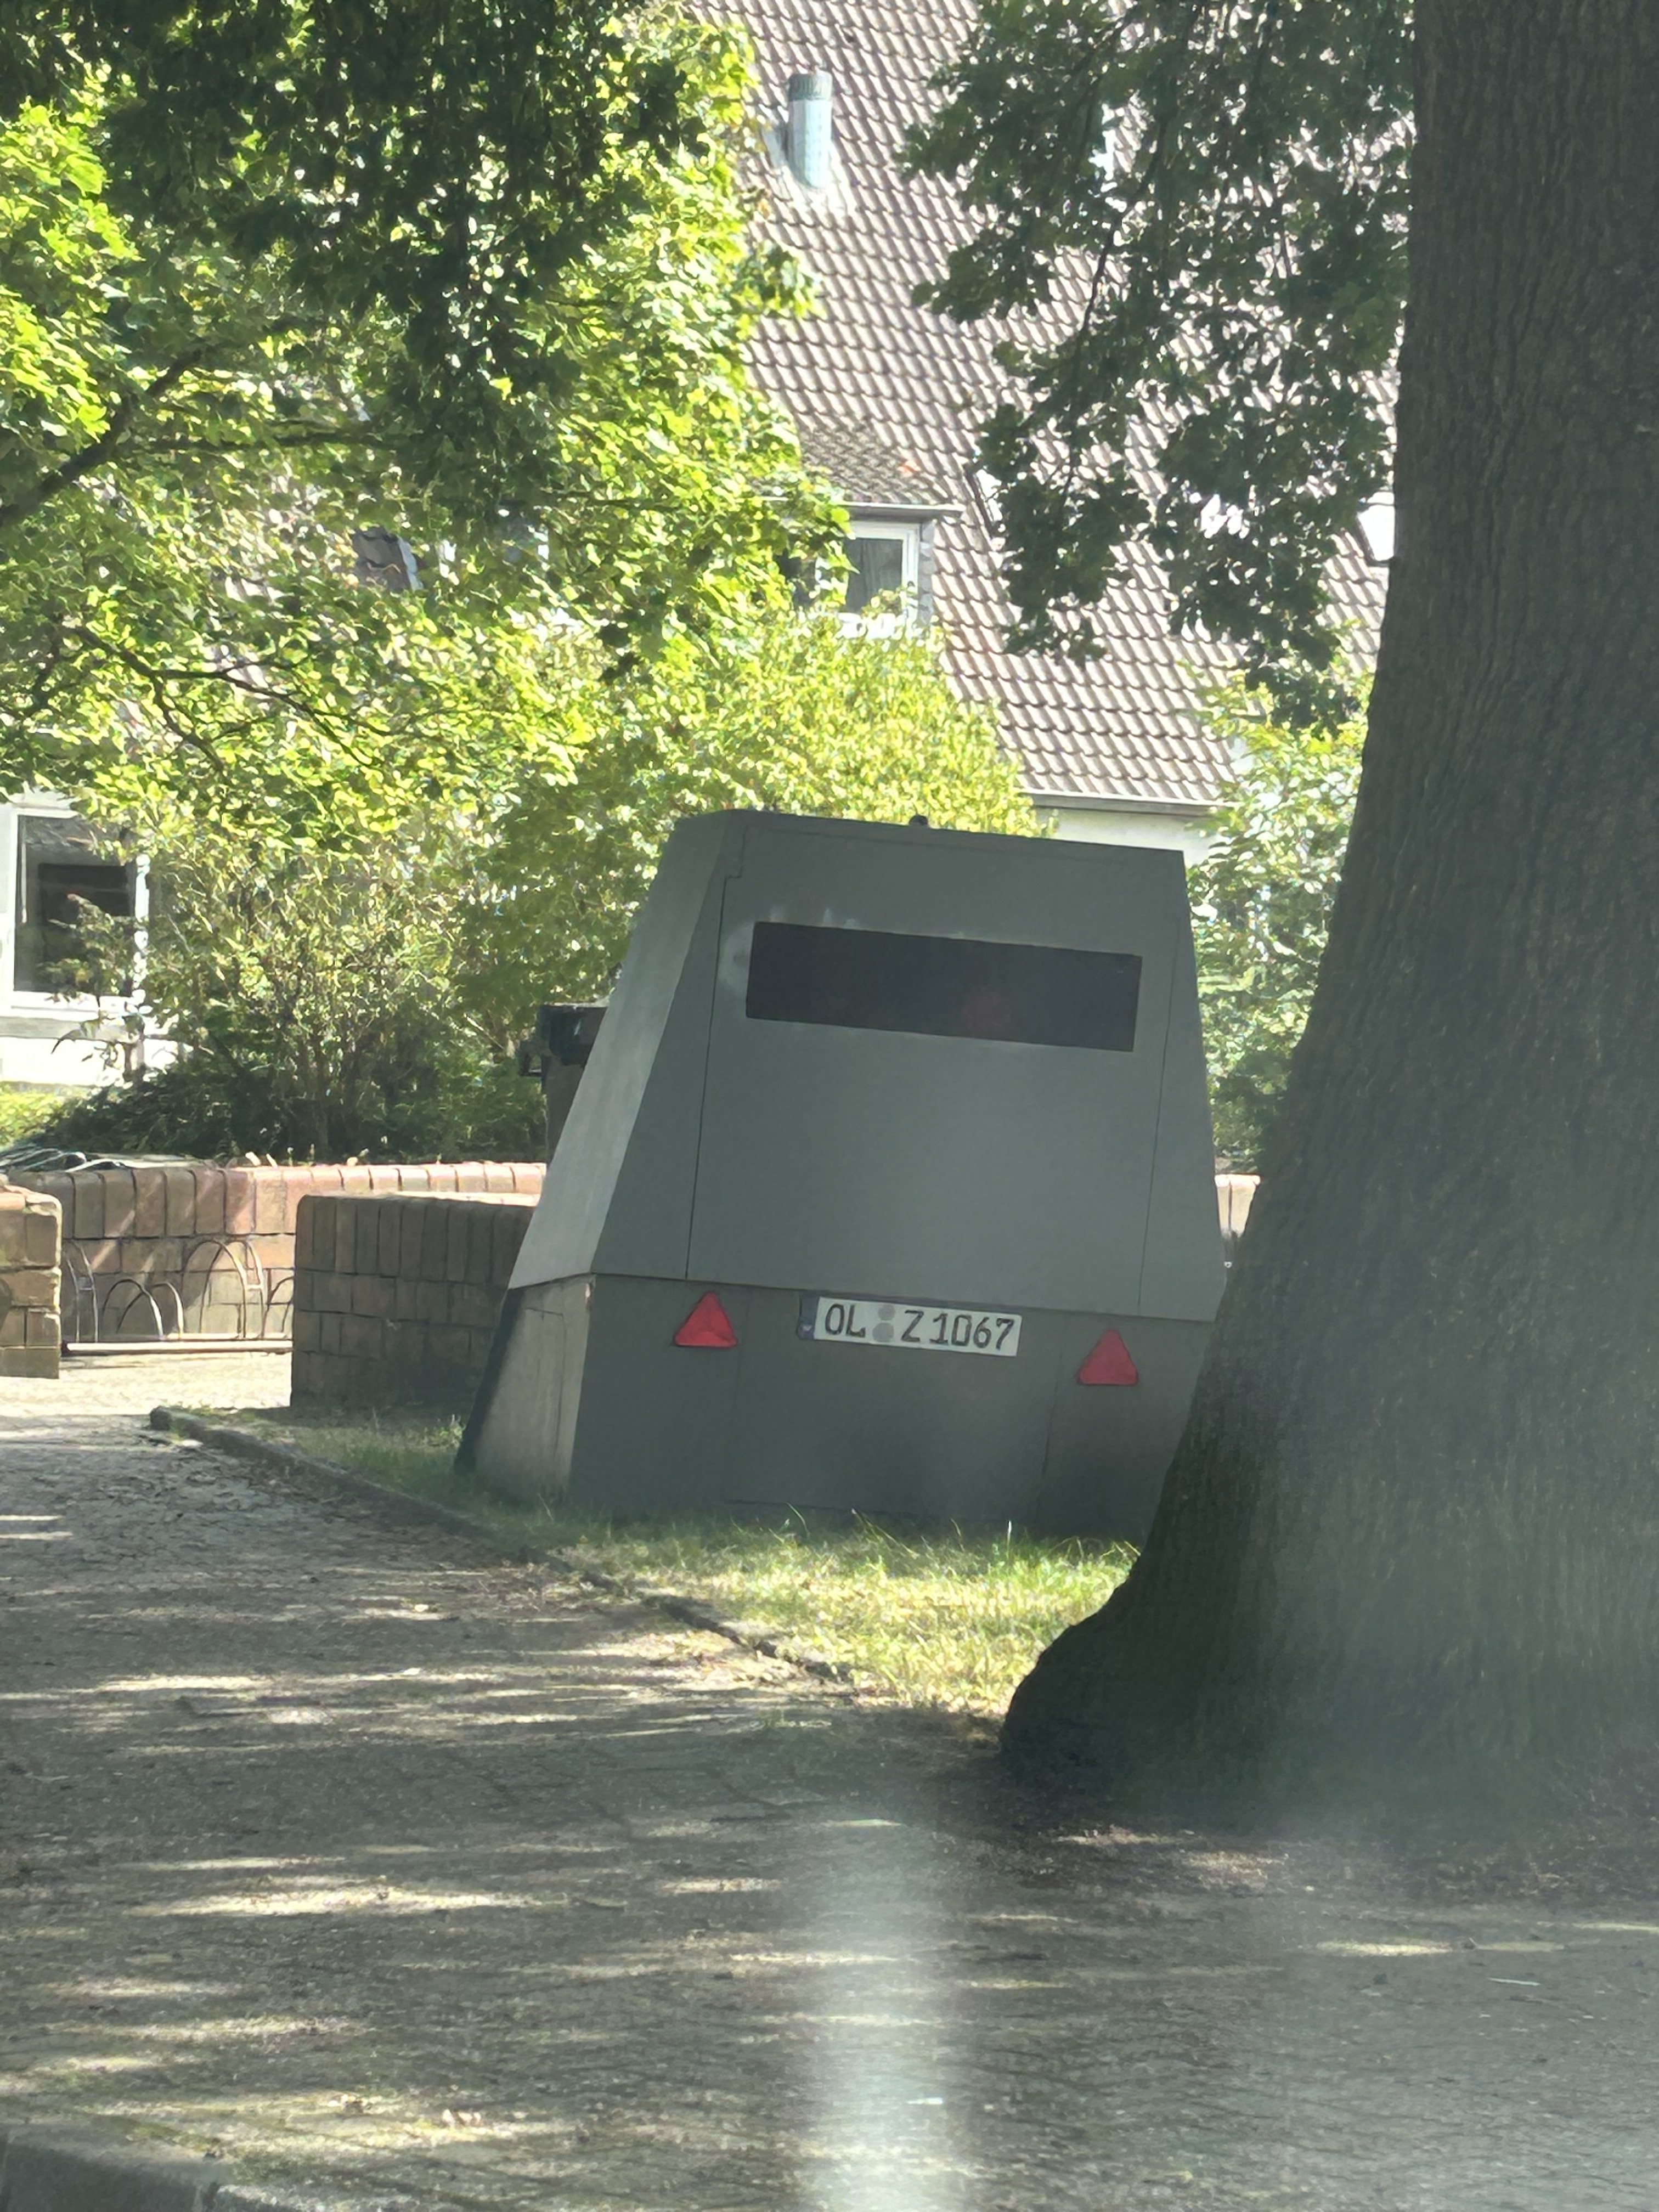
{"label": "shaded paved ground with dappled sunlight in front of the tree", "polygon": [[131,1367],[0,1383],[7,2117],[400,2212],[1659,2205],[1659,1909],[1055,1823]]}

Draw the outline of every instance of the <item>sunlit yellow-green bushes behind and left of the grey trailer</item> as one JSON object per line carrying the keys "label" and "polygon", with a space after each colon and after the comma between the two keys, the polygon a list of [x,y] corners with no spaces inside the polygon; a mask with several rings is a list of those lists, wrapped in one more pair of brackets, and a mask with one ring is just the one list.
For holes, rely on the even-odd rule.
{"label": "sunlit yellow-green bushes behind and left of the grey trailer", "polygon": [[[774,805],[1035,827],[991,717],[916,635],[847,637],[783,608],[675,639],[633,677],[555,633],[533,668],[546,741],[480,759],[467,801],[389,834],[294,845],[150,799],[144,1013],[188,1057],[58,1119],[80,1146],[188,1152],[535,1148],[540,1099],[502,1066],[544,998],[608,991],[681,814]],[[465,708],[465,699],[460,699]],[[133,925],[86,914],[84,980],[119,993]]]}

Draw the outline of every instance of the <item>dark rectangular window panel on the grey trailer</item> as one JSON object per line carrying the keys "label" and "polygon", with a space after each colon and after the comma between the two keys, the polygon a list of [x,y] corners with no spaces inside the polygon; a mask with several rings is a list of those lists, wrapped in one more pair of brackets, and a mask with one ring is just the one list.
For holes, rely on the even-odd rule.
{"label": "dark rectangular window panel on the grey trailer", "polygon": [[752,1022],[1133,1053],[1139,953],[757,922]]}

